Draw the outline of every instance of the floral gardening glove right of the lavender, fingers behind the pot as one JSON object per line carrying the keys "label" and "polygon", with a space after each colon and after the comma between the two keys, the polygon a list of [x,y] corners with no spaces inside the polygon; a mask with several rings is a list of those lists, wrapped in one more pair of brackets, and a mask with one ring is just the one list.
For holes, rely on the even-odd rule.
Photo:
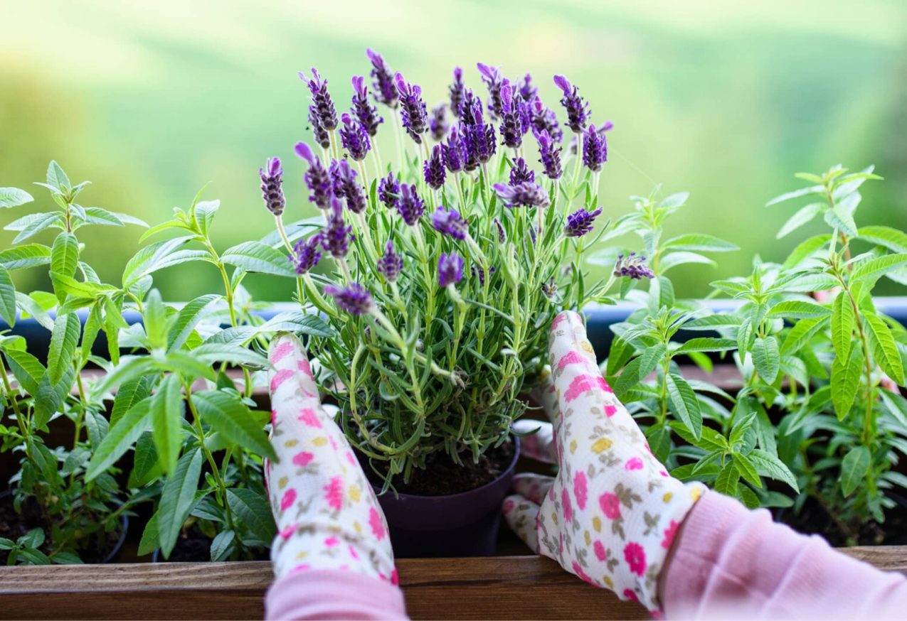
{"label": "floral gardening glove right of the lavender, fingers behind the pot", "polygon": [[[523,420],[522,452],[557,477],[518,474],[507,523],[532,550],[586,582],[658,611],[658,575],[701,483],[668,475],[599,372],[580,315],[555,317],[536,395],[551,423]],[[541,507],[540,507],[541,505]]]}

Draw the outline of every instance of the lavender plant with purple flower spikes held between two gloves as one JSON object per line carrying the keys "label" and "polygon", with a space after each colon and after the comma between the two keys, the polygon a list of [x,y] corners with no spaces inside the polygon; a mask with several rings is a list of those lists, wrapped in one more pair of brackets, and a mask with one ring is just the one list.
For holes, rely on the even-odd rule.
{"label": "lavender plant with purple flower spikes held between two gloves", "polygon": [[[649,272],[633,259],[606,282],[589,282],[583,253],[608,229],[598,204],[604,139],[596,134],[575,158],[575,180],[563,180],[562,132],[531,76],[511,82],[479,63],[485,103],[455,69],[448,124],[444,106],[428,114],[418,84],[401,73],[390,80],[384,59],[368,57],[373,98],[389,120],[366,131],[355,114],[365,86],[354,79],[354,111],[341,115],[339,136],[329,131],[320,155],[296,146],[309,199],[323,210],[319,229],[293,239],[267,191],[265,201],[297,274],[297,299],[334,328],[308,342],[319,383],[386,488],[438,454],[478,461],[507,441],[526,408],[522,393],[545,364],[554,315],[610,302],[615,283]],[[313,110],[332,107],[326,91],[312,93]],[[575,88],[565,105],[582,131],[589,112]],[[382,168],[388,124],[401,156]],[[375,154],[374,173],[365,151]],[[276,251],[268,240],[254,247]]]}

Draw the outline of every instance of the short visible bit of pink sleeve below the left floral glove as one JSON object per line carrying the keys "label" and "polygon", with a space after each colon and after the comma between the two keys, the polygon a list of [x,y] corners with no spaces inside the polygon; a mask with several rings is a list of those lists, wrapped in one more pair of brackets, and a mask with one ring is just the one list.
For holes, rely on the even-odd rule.
{"label": "short visible bit of pink sleeve below the left floral glove", "polygon": [[266,619],[405,619],[403,592],[376,577],[336,569],[297,571],[265,596]]}

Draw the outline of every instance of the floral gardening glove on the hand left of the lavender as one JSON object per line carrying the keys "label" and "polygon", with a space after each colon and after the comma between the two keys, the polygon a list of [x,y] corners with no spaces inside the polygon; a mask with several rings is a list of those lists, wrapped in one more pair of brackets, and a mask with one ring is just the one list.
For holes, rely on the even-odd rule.
{"label": "floral gardening glove on the hand left of the lavender", "polygon": [[340,569],[397,584],[385,515],[321,404],[306,350],[296,336],[278,335],[268,358],[271,443],[279,458],[265,464],[278,526],[271,547],[275,575]]}

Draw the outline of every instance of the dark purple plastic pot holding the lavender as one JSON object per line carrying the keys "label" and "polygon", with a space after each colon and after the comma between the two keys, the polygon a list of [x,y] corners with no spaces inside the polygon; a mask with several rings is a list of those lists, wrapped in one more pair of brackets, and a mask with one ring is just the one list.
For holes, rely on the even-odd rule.
{"label": "dark purple plastic pot holding the lavender", "polygon": [[[388,491],[378,496],[397,558],[487,557],[494,553],[501,505],[520,457],[513,437],[513,460],[501,476],[481,488],[448,496],[414,496]],[[375,492],[380,488],[375,488]]]}

